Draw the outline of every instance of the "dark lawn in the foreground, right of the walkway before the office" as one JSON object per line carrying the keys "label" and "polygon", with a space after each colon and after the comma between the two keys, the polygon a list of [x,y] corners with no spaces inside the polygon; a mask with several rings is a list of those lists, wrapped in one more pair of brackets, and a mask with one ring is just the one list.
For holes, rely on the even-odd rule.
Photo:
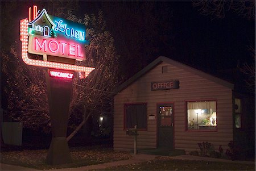
{"label": "dark lawn in the foreground, right of the walkway before the office", "polygon": [[255,170],[255,165],[227,162],[174,160],[156,157],[155,160],[107,168],[104,170]]}

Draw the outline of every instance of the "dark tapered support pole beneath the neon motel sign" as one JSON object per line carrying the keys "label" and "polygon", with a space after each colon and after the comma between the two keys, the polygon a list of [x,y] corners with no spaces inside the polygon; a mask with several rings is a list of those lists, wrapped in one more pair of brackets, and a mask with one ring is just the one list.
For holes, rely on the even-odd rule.
{"label": "dark tapered support pole beneath the neon motel sign", "polygon": [[46,81],[52,140],[46,162],[51,165],[66,164],[72,162],[66,136],[73,79],[50,77],[49,70],[51,69],[47,69]]}

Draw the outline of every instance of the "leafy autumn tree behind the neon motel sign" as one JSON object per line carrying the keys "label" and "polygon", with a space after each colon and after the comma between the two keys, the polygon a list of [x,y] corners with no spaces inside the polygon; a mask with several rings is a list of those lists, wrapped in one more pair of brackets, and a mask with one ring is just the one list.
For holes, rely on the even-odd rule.
{"label": "leafy autumn tree behind the neon motel sign", "polygon": [[[89,76],[80,80],[76,74],[73,82],[73,96],[69,111],[69,128],[81,128],[90,115],[103,112],[111,102],[112,88],[117,84],[118,56],[115,52],[112,35],[106,31],[106,24],[99,11],[97,15],[85,15],[77,19],[69,12],[68,19],[84,23],[87,26],[86,60],[77,65],[94,66],[96,69]],[[46,69],[24,64],[18,51],[18,43],[10,52],[2,51],[2,72],[7,76],[5,86],[7,110],[14,120],[23,122],[24,127],[50,130],[49,106],[47,99]],[[38,55],[31,55],[40,58]],[[106,105],[107,104],[107,105]]]}

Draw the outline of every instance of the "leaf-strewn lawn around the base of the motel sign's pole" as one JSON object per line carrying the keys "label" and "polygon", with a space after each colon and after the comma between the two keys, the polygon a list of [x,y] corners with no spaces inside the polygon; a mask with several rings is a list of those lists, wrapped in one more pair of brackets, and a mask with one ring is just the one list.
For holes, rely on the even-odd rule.
{"label": "leaf-strewn lawn around the base of the motel sign's pole", "polygon": [[112,148],[70,148],[73,163],[64,165],[47,165],[47,150],[23,150],[1,152],[1,162],[35,169],[74,168],[79,166],[100,164],[104,162],[126,160],[131,157],[129,153],[113,151]]}

